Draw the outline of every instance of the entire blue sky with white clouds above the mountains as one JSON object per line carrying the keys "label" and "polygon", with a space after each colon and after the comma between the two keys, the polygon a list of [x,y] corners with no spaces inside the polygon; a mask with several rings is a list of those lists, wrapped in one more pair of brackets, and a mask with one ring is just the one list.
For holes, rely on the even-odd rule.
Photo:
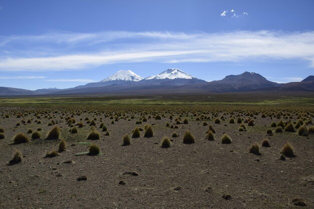
{"label": "entire blue sky with white clouds above the mountains", "polygon": [[314,1],[0,0],[0,86],[71,88],[119,70],[314,74]]}

